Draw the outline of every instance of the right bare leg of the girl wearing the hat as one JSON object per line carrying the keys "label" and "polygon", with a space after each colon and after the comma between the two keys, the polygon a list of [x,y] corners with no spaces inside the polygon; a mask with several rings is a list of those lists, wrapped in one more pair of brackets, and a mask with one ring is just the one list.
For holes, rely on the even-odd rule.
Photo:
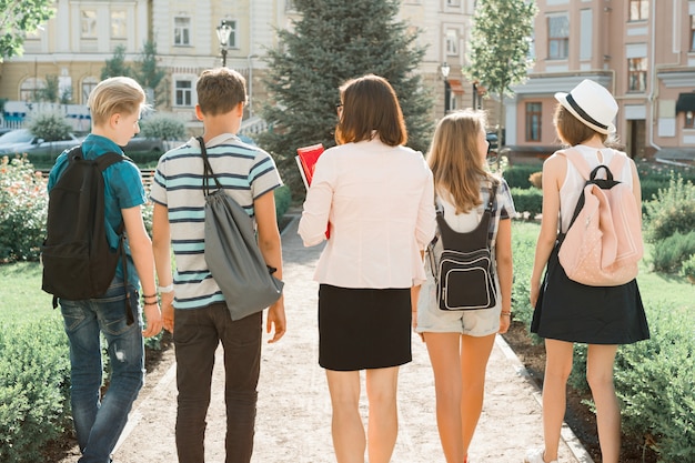
{"label": "right bare leg of the girl wearing the hat", "polygon": [[596,404],[596,426],[603,463],[617,463],[621,455],[621,409],[613,384],[617,345],[590,344],[586,380]]}

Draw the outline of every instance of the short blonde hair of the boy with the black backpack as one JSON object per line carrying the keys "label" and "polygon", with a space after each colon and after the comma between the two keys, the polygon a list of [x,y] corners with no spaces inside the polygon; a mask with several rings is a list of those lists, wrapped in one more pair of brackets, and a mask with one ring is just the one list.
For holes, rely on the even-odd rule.
{"label": "short blonde hair of the boy with the black backpack", "polygon": [[140,113],[147,105],[144,90],[138,82],[127,77],[114,77],[99,82],[89,94],[92,123],[103,125],[113,114]]}

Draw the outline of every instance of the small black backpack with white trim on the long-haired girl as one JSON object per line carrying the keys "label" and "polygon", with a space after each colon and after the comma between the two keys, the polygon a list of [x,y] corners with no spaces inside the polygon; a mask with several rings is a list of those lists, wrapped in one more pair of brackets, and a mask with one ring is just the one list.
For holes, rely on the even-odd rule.
{"label": "small black backpack with white trim on the long-haired girl", "polygon": [[[496,193],[495,182],[481,222],[467,233],[452,230],[444,220],[443,208],[437,205],[439,233],[427,251],[441,310],[492,309],[497,303],[490,243],[490,223],[493,220]],[[439,262],[434,250],[437,240],[442,241],[443,246]]]}

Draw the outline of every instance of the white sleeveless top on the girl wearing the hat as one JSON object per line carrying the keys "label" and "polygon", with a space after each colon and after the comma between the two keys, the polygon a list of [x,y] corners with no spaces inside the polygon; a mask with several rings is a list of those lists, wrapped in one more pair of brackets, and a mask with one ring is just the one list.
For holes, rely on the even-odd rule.
{"label": "white sleeveless top on the girl wearing the hat", "polygon": [[[627,154],[624,152],[616,151],[612,148],[596,149],[584,144],[577,144],[573,148],[578,151],[582,157],[584,157],[591,170],[600,164],[611,164],[611,161],[615,155],[623,155],[627,158]],[[598,153],[601,153],[601,157]],[[553,155],[558,154],[555,152]],[[605,178],[605,173],[601,171],[600,177]],[[628,158],[625,159],[622,172],[613,172],[613,178],[632,188],[632,164]],[[567,173],[565,174],[565,180],[560,189],[560,223],[562,225],[562,232],[566,232],[570,227],[572,215],[574,214],[574,208],[576,208],[576,203],[580,200],[580,195],[582,194],[582,190],[584,188],[584,182],[585,180],[582,178],[580,171],[574,167],[574,164],[567,161]]]}

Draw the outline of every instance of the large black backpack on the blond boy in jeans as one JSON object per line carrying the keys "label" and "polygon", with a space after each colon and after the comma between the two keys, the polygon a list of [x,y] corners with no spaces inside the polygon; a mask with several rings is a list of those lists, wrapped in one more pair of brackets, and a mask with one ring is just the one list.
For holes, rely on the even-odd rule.
{"label": "large black backpack on the blond boy in jeans", "polygon": [[[68,167],[49,193],[47,239],[41,246],[43,280],[41,289],[58,298],[80,301],[102,295],[115,276],[123,256],[123,274],[128,280],[123,223],[119,227],[119,246],[112,251],[104,223],[104,188],[102,172],[129,158],[114,152],[87,160],[81,147],[68,152]],[[132,162],[132,161],[131,161]],[[125,298],[128,324],[133,322],[130,299]]]}

